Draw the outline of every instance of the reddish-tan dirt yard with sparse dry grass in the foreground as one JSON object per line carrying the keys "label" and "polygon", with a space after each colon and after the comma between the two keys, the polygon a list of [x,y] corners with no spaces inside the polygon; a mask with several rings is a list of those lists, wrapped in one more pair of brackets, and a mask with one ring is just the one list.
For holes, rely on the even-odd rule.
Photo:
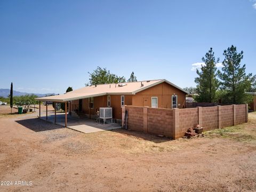
{"label": "reddish-tan dirt yard with sparse dry grass in the foreground", "polygon": [[0,191],[256,191],[256,113],[175,141],[121,129],[84,134],[36,115],[0,115],[0,181],[13,182]]}

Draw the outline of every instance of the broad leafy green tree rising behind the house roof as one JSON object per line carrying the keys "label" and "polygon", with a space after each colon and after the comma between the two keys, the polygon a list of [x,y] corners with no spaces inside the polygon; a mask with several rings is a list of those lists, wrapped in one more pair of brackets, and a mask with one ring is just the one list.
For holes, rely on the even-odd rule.
{"label": "broad leafy green tree rising behind the house roof", "polygon": [[[89,73],[89,72],[88,72]],[[92,73],[89,73],[89,81],[91,85],[108,84],[108,83],[124,83],[125,77],[119,77],[111,74],[106,68],[97,67]]]}

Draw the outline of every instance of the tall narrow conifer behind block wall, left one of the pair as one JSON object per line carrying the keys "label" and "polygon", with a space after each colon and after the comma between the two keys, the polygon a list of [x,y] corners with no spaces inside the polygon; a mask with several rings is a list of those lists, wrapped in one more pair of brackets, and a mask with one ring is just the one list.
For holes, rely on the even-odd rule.
{"label": "tall narrow conifer behind block wall, left one of the pair", "polygon": [[196,101],[198,102],[213,102],[215,100],[215,92],[218,89],[219,81],[217,79],[217,67],[216,63],[219,62],[219,58],[215,60],[214,52],[212,48],[202,58],[205,65],[202,65],[201,70],[196,70],[199,77],[195,78],[197,83]]}

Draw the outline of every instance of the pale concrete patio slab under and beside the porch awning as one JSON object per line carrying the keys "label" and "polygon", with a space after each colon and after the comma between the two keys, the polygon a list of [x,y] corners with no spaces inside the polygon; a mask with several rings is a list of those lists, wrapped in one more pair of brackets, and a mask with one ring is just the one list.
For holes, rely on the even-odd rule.
{"label": "pale concrete patio slab under and beside the porch awning", "polygon": [[[58,113],[56,117],[57,117],[56,124],[65,126],[65,113]],[[76,118],[70,115],[67,115],[67,117],[68,117],[67,127],[83,133],[93,133],[93,132],[107,131],[107,130],[114,130],[114,129],[121,128],[121,125],[117,123],[103,124],[103,123],[96,122],[94,119]],[[40,118],[45,121],[54,123],[54,113],[50,112],[48,114],[47,119],[46,119],[46,116],[41,116]]]}

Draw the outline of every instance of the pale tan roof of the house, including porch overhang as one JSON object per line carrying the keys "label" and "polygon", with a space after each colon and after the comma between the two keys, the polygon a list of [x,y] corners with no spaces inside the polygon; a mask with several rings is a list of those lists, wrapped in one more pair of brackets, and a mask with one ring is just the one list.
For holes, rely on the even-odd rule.
{"label": "pale tan roof of the house, including porch overhang", "polygon": [[49,97],[36,98],[38,101],[55,101],[55,102],[65,102],[77,99],[85,99],[90,97],[97,97],[101,95],[111,95],[111,94],[136,94],[140,91],[146,90],[149,87],[155,86],[160,83],[168,83],[177,89],[188,94],[185,90],[181,89],[179,86],[167,81],[166,79],[151,80],[151,81],[140,81],[140,82],[130,82],[130,83],[117,83],[117,84],[101,84],[101,85],[91,85],[86,86],[81,89],[70,91],[60,95],[53,95]]}

